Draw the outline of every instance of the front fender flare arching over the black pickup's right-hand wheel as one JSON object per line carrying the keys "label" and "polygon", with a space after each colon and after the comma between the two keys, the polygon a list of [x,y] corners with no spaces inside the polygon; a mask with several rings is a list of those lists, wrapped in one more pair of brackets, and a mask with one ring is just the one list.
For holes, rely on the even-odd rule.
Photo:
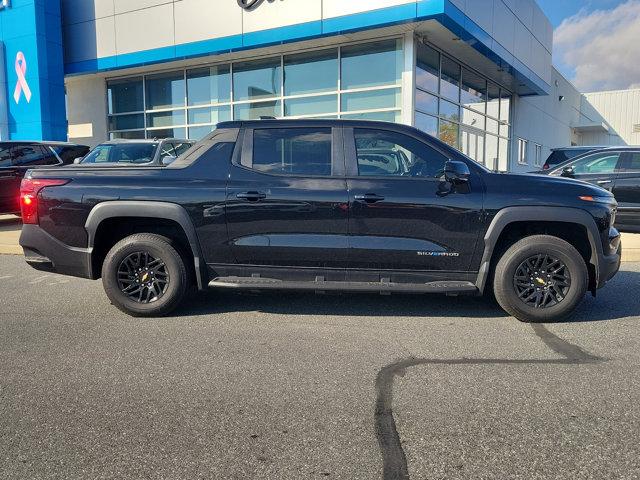
{"label": "front fender flare arching over the black pickup's right-hand wheel", "polygon": [[596,285],[599,284],[599,265],[603,262],[604,253],[598,227],[593,217],[585,210],[572,207],[509,207],[500,210],[494,217],[484,237],[484,253],[480,263],[476,286],[484,292],[496,244],[504,229],[515,222],[560,222],[572,223],[585,227],[591,245],[589,262],[595,267]]}

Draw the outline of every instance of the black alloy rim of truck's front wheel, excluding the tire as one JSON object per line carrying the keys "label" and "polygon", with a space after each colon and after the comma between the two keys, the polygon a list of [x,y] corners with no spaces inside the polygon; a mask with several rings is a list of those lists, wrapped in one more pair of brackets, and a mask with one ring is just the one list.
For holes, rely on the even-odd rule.
{"label": "black alloy rim of truck's front wheel, excluding the tire", "polygon": [[562,302],[571,288],[567,266],[552,255],[527,258],[517,268],[513,285],[518,298],[534,308],[549,308]]}

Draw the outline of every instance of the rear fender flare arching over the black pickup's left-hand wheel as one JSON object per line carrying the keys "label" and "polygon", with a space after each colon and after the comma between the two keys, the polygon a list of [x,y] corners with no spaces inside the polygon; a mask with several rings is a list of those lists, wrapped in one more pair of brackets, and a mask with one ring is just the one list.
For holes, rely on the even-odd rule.
{"label": "rear fender flare arching over the black pickup's left-hand wheel", "polygon": [[206,288],[209,280],[206,266],[202,261],[203,257],[200,242],[198,241],[193,222],[184,207],[176,205],[175,203],[166,202],[109,201],[99,203],[91,210],[85,223],[90,251],[93,251],[96,232],[100,224],[105,220],[116,217],[158,218],[172,220],[180,225],[189,241],[191,253],[193,254],[198,289],[203,290]]}

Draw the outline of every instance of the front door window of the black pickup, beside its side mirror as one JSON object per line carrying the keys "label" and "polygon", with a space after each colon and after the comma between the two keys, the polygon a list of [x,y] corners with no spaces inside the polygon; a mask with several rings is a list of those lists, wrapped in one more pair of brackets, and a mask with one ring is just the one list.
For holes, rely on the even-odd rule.
{"label": "front door window of the black pickup, beside its side mirror", "polygon": [[447,158],[413,137],[385,130],[355,130],[361,176],[438,178]]}

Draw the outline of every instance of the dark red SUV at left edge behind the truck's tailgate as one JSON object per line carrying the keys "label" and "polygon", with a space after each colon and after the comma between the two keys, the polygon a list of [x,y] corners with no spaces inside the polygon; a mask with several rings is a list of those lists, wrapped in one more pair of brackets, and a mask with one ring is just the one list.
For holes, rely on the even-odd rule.
{"label": "dark red SUV at left edge behind the truck's tailgate", "polygon": [[0,142],[0,214],[20,211],[20,181],[27,170],[68,165],[88,151],[66,142]]}

